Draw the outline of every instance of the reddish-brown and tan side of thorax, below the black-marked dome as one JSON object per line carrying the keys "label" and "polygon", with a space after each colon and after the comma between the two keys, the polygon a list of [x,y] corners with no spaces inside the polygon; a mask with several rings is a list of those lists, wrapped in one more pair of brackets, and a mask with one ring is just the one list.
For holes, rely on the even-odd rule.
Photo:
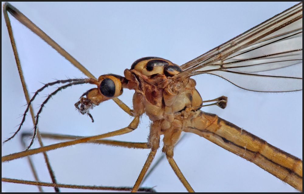
{"label": "reddish-brown and tan side of thorax, below the black-marked dome", "polygon": [[167,78],[161,85],[141,85],[143,90],[134,94],[133,106],[135,111],[144,109],[151,121],[163,119],[171,123],[186,109],[194,111],[200,109],[195,107],[202,105],[202,98],[195,89],[194,79],[173,82]]}

